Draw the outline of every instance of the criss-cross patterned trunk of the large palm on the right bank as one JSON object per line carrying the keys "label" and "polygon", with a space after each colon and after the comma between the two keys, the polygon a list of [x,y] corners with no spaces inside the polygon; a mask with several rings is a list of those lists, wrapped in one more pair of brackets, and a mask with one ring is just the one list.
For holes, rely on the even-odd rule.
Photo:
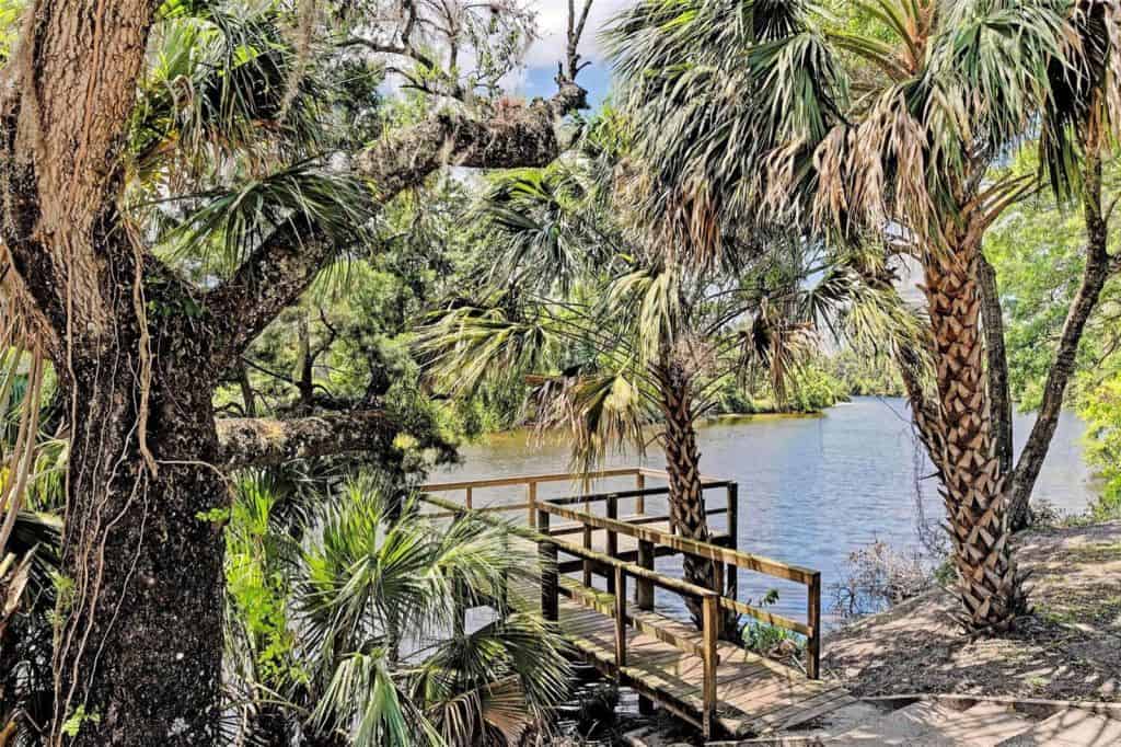
{"label": "criss-cross patterned trunk of the large palm on the right bank", "polygon": [[978,287],[980,242],[969,233],[926,260],[944,453],[943,499],[954,547],[961,621],[972,633],[1007,630],[1025,611],[1011,556],[1007,492],[995,453],[984,376]]}

